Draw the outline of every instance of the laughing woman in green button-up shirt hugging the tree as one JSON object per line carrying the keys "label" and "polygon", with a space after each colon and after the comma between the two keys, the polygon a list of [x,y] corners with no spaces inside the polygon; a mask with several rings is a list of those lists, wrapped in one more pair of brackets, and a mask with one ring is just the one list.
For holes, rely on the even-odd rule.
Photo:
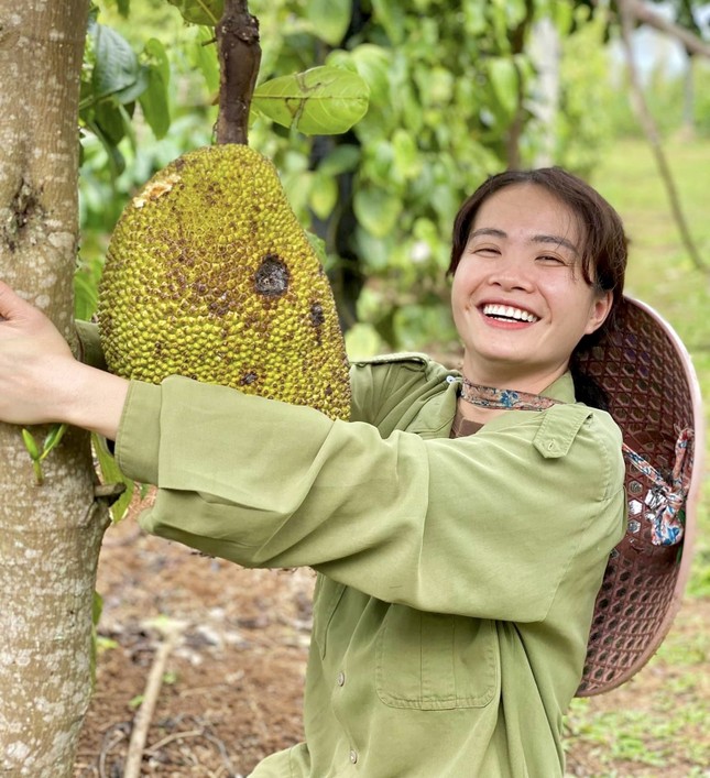
{"label": "laughing woman in green button-up shirt hugging the tree", "polygon": [[80,364],[3,285],[0,418],[116,440],[123,472],[159,487],[149,532],[318,571],[306,743],[255,778],[561,776],[625,512],[620,431],[575,402],[570,363],[609,326],[625,261],[619,217],[583,182],[494,176],[454,231],[461,372],[353,364],[350,423]]}

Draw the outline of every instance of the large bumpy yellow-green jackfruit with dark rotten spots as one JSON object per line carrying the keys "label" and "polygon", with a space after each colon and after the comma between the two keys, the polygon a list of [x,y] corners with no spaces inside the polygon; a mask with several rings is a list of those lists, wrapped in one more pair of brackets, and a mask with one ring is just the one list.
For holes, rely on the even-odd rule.
{"label": "large bumpy yellow-green jackfruit with dark rotten spots", "polygon": [[184,154],[133,197],[108,246],[98,324],[118,375],[185,375],[349,417],[330,284],[276,168],[249,146]]}

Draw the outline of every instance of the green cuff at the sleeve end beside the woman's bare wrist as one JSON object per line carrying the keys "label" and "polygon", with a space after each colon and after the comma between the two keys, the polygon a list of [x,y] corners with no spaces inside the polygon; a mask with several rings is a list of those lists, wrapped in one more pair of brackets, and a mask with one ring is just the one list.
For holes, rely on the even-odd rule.
{"label": "green cuff at the sleeve end beside the woman's bare wrist", "polygon": [[118,435],[116,461],[127,478],[157,484],[162,390],[155,384],[131,381]]}

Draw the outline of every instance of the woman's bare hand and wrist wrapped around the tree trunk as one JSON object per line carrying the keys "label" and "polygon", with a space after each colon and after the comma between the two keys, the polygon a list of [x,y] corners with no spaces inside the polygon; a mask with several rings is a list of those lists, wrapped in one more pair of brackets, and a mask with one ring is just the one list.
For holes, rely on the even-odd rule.
{"label": "woman's bare hand and wrist wrapped around the tree trunk", "polygon": [[52,321],[0,281],[0,420],[114,438],[128,382],[81,364]]}

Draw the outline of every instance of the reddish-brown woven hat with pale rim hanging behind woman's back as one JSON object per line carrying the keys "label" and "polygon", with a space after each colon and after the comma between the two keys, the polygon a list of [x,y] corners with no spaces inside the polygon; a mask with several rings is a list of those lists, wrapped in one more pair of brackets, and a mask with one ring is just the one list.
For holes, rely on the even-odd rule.
{"label": "reddish-brown woven hat with pale rim hanging behind woman's back", "polygon": [[637,672],[680,607],[702,479],[703,429],[690,357],[673,328],[648,306],[624,297],[618,327],[579,365],[607,392],[609,412],[626,446],[664,479],[678,463],[679,436],[685,430],[690,437],[684,470],[685,532],[673,545],[657,545],[653,537],[657,486],[626,464],[629,527],[609,559],[577,691],[578,697],[590,697]]}

